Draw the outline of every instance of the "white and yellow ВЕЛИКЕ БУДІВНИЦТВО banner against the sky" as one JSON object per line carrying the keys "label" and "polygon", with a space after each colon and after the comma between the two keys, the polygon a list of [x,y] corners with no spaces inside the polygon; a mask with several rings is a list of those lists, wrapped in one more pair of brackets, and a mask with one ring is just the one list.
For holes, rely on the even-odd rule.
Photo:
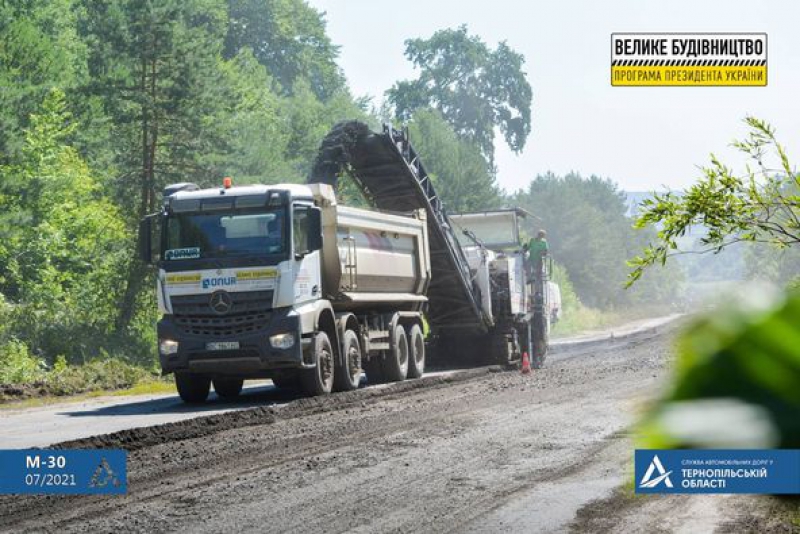
{"label": "white and yellow \u0412\u0415\u041b\u0418\u041a\u0415 \u0411\u0423\u0414\u0406\u0412\u041d\u0418\u0426\u0422\u0412\u041e banner against the sky", "polygon": [[613,86],[766,86],[766,33],[612,33]]}

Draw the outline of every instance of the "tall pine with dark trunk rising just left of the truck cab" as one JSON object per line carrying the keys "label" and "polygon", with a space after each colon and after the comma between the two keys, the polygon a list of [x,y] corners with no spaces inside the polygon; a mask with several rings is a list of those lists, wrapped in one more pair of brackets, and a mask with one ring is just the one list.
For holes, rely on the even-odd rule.
{"label": "tall pine with dark trunk rising just left of the truck cab", "polygon": [[[102,99],[114,125],[115,196],[133,223],[157,209],[165,184],[221,174],[203,163],[229,150],[213,120],[227,104],[219,68],[225,6],[93,0],[82,8],[79,27],[91,50],[87,92]],[[132,259],[119,328],[133,316],[145,273]]]}

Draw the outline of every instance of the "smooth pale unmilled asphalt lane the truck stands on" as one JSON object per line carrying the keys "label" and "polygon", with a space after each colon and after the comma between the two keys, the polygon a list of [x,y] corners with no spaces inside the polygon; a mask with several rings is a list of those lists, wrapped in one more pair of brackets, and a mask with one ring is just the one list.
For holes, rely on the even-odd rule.
{"label": "smooth pale unmilled asphalt lane the truck stands on", "polygon": [[[652,331],[673,320],[678,315],[636,321],[608,331],[555,340],[552,359],[561,358],[566,350],[581,345],[623,339]],[[570,354],[573,351],[570,350]],[[461,370],[432,371],[426,377],[448,376]],[[362,379],[363,380],[363,379]],[[372,387],[385,387],[378,385]],[[246,383],[242,395],[235,401],[224,401],[211,394],[204,405],[186,405],[174,393],[136,395],[124,397],[98,397],[93,399],[49,404],[46,406],[0,409],[0,448],[22,449],[46,447],[63,441],[108,434],[120,430],[155,426],[216,415],[254,407],[280,408],[297,395],[275,388],[271,381]]]}

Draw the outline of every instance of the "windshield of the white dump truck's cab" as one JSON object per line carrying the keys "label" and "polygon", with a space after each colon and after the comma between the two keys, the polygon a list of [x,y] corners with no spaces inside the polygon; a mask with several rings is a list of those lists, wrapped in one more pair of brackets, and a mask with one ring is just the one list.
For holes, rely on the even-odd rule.
{"label": "windshield of the white dump truck's cab", "polygon": [[165,261],[283,255],[285,209],[178,213],[166,222]]}

